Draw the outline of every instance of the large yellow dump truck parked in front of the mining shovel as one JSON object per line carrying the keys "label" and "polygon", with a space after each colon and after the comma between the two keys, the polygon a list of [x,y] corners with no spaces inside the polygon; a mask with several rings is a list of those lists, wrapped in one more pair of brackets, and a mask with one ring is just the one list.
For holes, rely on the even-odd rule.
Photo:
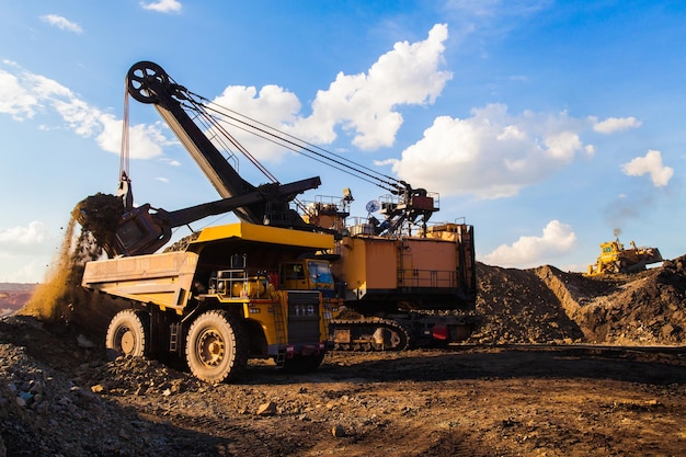
{"label": "large yellow dump truck parked in front of the mining shovel", "polygon": [[247,222],[204,229],[185,251],[89,262],[82,285],[130,301],[112,319],[113,355],[184,358],[209,382],[249,358],[315,369],[328,340],[333,279],[309,258],[333,236]]}

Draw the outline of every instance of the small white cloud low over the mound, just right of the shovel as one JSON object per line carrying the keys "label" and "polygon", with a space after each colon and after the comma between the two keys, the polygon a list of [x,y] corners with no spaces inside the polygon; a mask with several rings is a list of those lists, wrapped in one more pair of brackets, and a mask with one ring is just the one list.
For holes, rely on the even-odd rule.
{"label": "small white cloud low over the mound, just right of the shovel", "polygon": [[534,267],[560,254],[572,251],[576,245],[576,235],[571,226],[551,220],[540,237],[521,237],[511,245],[502,244],[479,260],[490,265],[505,267]]}

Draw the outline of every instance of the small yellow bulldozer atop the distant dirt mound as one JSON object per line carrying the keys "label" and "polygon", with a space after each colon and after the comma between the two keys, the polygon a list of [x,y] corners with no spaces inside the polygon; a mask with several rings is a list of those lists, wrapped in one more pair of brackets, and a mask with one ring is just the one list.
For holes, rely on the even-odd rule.
{"label": "small yellow bulldozer atop the distant dirt mound", "polygon": [[645,265],[662,262],[658,248],[637,247],[625,249],[619,239],[601,243],[601,255],[595,264],[588,265],[587,275],[595,276],[613,273],[636,273],[645,270]]}

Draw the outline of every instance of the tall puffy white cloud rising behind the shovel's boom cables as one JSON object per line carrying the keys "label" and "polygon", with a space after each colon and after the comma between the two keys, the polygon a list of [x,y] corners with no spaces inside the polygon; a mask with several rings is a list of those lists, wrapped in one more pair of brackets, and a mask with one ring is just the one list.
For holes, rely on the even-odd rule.
{"label": "tall puffy white cloud rising behind the shovel's boom cables", "polygon": [[[254,87],[228,87],[214,101],[310,142],[333,142],[342,126],[359,149],[388,147],[402,125],[397,108],[434,103],[451,78],[439,69],[447,37],[447,26],[437,24],[424,41],[396,43],[365,73],[340,72],[328,90],[317,92],[307,117],[299,114],[298,98],[277,85],[259,92]],[[237,137],[259,159],[278,160],[283,155],[283,148],[277,151],[263,140]]]}

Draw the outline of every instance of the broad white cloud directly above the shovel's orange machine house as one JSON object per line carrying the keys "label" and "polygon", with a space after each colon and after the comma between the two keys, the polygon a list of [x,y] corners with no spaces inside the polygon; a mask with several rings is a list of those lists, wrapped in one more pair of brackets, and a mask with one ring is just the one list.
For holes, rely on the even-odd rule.
{"label": "broad white cloud directly above the shovel's orange machine house", "polygon": [[578,153],[593,151],[580,138],[587,121],[565,112],[512,115],[506,105],[490,104],[471,114],[437,117],[401,159],[391,159],[392,170],[444,195],[500,198],[550,176]]}

